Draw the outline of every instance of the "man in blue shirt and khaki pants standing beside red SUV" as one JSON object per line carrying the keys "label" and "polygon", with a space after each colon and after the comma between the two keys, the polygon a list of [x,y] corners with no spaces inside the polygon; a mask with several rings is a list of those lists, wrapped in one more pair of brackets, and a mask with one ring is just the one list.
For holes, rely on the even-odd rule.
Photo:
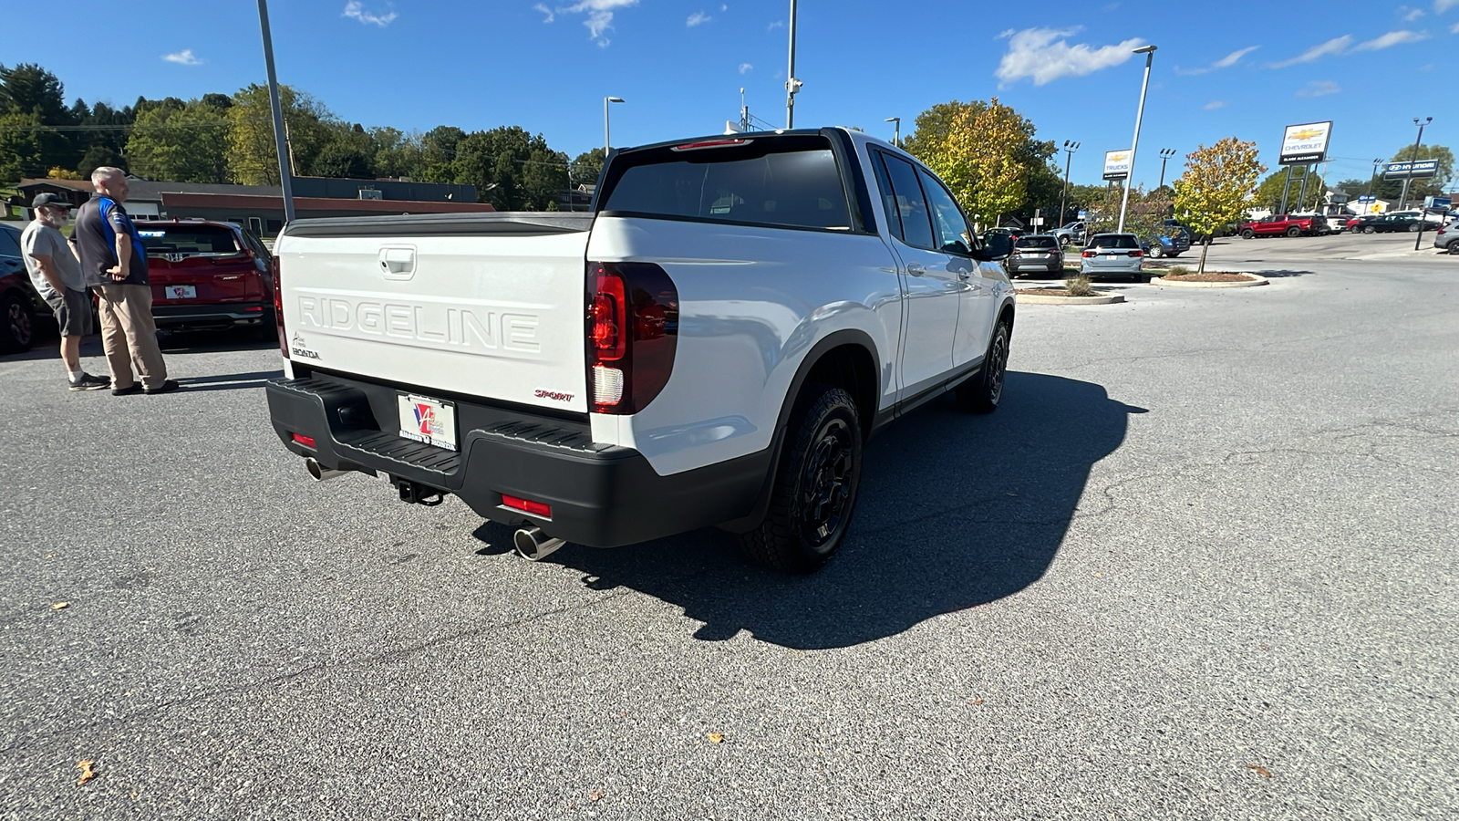
{"label": "man in blue shirt and khaki pants standing beside red SUV", "polygon": [[[158,346],[152,320],[152,286],[147,283],[147,250],[121,203],[127,175],[104,165],[92,171],[96,193],[76,213],[71,241],[82,260],[82,276],[93,286],[101,308],[101,345],[111,365],[111,393],[166,393],[177,390]],[[131,368],[136,365],[137,378]]]}

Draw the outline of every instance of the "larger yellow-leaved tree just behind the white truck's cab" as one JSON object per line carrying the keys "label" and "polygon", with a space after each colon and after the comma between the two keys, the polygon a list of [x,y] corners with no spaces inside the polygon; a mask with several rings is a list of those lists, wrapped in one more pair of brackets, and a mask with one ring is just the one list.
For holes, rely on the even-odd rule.
{"label": "larger yellow-leaved tree just behind the white truck's cab", "polygon": [[922,133],[922,118],[907,150],[926,164],[953,190],[973,221],[995,225],[1004,213],[1027,200],[1030,167],[1020,158],[1032,124],[1013,108],[992,98],[956,104]]}

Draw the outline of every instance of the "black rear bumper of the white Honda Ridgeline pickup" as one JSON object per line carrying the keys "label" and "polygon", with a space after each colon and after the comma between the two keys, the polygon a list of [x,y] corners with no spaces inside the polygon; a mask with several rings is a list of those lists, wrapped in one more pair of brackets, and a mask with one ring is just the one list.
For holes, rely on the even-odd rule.
{"label": "black rear bumper of the white Honda Ridgeline pickup", "polygon": [[[455,494],[484,519],[598,548],[747,516],[769,475],[770,450],[661,476],[636,450],[592,443],[587,421],[442,396],[457,403],[461,450],[449,451],[398,435],[398,392],[334,374],[273,380],[268,415],[285,447],[324,467],[388,473]],[[552,514],[503,507],[503,494],[546,503]]]}

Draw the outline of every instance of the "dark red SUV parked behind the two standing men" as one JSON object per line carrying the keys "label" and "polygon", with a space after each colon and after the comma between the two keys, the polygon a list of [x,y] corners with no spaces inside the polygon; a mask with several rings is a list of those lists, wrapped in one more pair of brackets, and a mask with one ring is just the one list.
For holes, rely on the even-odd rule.
{"label": "dark red SUV parked behind the two standing men", "polygon": [[136,224],[147,248],[152,316],[159,329],[274,330],[277,263],[252,232],[203,219]]}

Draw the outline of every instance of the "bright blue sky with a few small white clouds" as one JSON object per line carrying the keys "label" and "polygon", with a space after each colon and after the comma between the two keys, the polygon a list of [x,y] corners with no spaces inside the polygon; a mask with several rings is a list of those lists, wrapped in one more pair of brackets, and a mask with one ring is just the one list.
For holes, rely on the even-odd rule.
{"label": "bright blue sky with a few small white clouds", "polygon": [[[69,101],[264,82],[248,0],[7,3],[4,15],[0,63],[41,63]],[[605,95],[627,101],[613,107],[614,145],[633,145],[721,131],[741,86],[751,114],[785,123],[789,0],[274,0],[270,15],[280,82],[366,126],[518,124],[576,155],[603,143]],[[58,47],[51,35],[76,28],[64,20],[114,22],[109,66],[82,56],[86,35]],[[1083,143],[1075,183],[1097,183],[1103,152],[1129,146],[1144,66],[1129,50],[1147,42],[1160,50],[1137,181],[1157,181],[1161,148],[1182,155],[1173,178],[1198,143],[1233,134],[1275,167],[1293,123],[1335,121],[1331,180],[1367,178],[1373,158],[1412,143],[1415,115],[1434,117],[1425,143],[1459,142],[1459,0],[1315,3],[1297,23],[1250,0],[801,0],[797,28],[797,126],[890,137],[886,117],[906,133],[932,104],[996,95],[1040,137]]]}

